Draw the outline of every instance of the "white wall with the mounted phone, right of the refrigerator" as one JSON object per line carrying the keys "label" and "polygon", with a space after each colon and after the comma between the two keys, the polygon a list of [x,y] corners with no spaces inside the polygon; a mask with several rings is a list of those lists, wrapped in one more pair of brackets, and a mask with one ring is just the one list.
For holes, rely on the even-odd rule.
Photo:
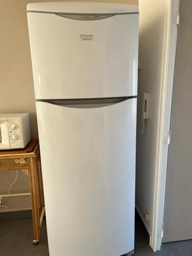
{"label": "white wall with the mounted phone, right of the refrigerator", "polygon": [[[159,127],[161,122],[162,90],[164,90],[164,59],[167,47],[168,14],[170,1],[139,0],[140,33],[138,74],[138,119],[136,163],[136,207],[143,218],[143,209],[150,214],[144,224],[150,234],[156,214]],[[142,94],[151,92],[150,119],[145,121],[142,135]]]}

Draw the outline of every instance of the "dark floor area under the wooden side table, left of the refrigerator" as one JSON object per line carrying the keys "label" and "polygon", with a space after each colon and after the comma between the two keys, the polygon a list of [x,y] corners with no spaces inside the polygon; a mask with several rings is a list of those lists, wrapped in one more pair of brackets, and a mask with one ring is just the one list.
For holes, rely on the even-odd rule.
{"label": "dark floor area under the wooden side table, left of the refrigerator", "polygon": [[41,242],[33,245],[31,218],[0,220],[0,256],[49,256],[46,220]]}

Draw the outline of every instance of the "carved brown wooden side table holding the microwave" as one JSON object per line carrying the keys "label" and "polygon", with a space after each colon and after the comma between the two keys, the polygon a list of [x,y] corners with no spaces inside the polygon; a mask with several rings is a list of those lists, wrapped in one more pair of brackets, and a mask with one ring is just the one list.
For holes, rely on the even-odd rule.
{"label": "carved brown wooden side table holding the microwave", "polygon": [[34,232],[33,244],[37,244],[40,241],[40,229],[45,215],[38,140],[31,140],[25,148],[20,150],[0,151],[0,171],[8,170],[23,170],[26,175],[29,175]]}

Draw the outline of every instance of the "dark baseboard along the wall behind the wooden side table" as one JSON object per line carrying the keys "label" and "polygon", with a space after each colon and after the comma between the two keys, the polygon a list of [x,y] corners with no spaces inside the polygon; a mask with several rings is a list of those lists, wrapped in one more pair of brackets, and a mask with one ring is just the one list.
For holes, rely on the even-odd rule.
{"label": "dark baseboard along the wall behind the wooden side table", "polygon": [[14,210],[0,212],[0,220],[32,218],[32,210]]}

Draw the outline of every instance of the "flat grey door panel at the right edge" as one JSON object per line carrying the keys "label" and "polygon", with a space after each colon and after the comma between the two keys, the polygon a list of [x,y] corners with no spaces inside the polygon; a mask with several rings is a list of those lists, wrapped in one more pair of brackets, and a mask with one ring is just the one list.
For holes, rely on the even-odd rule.
{"label": "flat grey door panel at the right edge", "polygon": [[[178,30],[174,74],[170,120],[172,138],[168,148],[163,242],[192,239],[191,10],[191,0],[180,1],[182,26]],[[187,253],[192,255],[191,250],[184,248],[182,255]]]}

